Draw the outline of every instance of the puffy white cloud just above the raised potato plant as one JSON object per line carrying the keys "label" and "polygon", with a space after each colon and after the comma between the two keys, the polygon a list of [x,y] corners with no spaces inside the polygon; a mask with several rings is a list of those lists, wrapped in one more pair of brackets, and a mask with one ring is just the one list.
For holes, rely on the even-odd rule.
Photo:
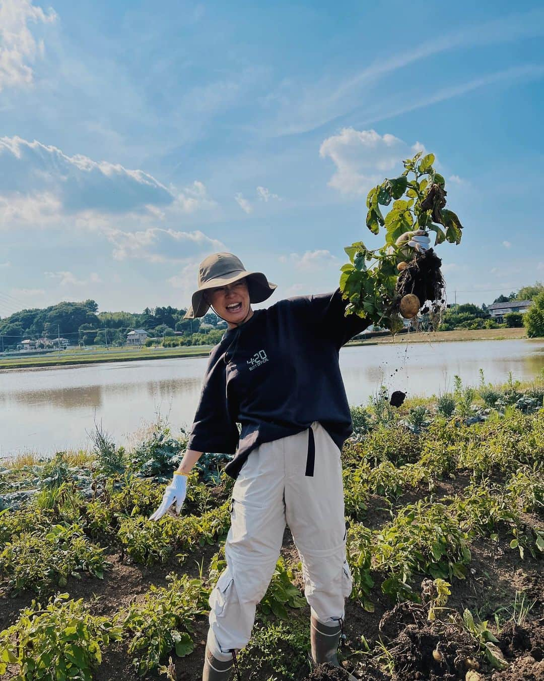
{"label": "puffy white cloud just above the raised potato plant", "polygon": [[322,158],[330,157],[336,172],[328,185],[344,194],[366,194],[384,174],[402,168],[401,161],[424,146],[416,142],[411,148],[394,135],[379,135],[375,130],[344,128],[320,147]]}

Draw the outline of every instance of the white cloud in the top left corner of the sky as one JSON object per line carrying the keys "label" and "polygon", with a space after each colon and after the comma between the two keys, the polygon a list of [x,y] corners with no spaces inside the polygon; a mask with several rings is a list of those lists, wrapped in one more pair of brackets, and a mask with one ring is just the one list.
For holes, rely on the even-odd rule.
{"label": "white cloud in the top left corner of the sky", "polygon": [[44,42],[36,40],[29,22],[48,24],[56,14],[44,12],[31,0],[0,2],[0,91],[9,86],[29,86],[33,82],[32,64],[44,57]]}

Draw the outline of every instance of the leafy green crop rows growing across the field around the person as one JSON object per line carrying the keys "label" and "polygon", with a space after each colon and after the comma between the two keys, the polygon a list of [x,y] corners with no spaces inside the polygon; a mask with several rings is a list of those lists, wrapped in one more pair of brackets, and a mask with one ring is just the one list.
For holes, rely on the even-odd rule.
{"label": "leafy green crop rows growing across the field around the person", "polygon": [[[354,436],[342,460],[354,603],[372,610],[377,588],[392,603],[418,602],[424,575],[437,584],[447,580],[453,590],[470,577],[479,537],[506,540],[523,560],[543,554],[544,535],[525,515],[544,509],[543,398],[538,382],[473,390],[457,381],[451,395],[437,399],[396,409],[381,391],[352,410]],[[152,669],[168,674],[169,656],[192,654],[194,624],[205,620],[207,597],[224,568],[232,481],[209,456],[192,473],[182,516],[148,520],[185,445],[183,433],[174,438],[159,423],[133,452],[106,437],[92,453],[0,471],[7,507],[0,511],[0,591],[36,599],[0,633],[0,674],[87,680],[112,646],[122,646],[140,676]],[[445,484],[456,478],[458,492],[446,494]],[[399,503],[405,492],[420,498]],[[371,529],[365,518],[376,497],[390,506],[391,518]],[[216,546],[208,565],[205,545]],[[95,614],[90,603],[64,592],[83,572],[107,580],[112,554],[174,573],[167,586],[151,586],[108,617]],[[186,566],[195,560],[201,574],[190,579]],[[258,612],[282,637],[290,636],[285,627],[293,610],[305,605],[300,586],[300,566],[280,559]],[[272,629],[256,631],[265,647]],[[288,666],[282,678],[295,678]]]}

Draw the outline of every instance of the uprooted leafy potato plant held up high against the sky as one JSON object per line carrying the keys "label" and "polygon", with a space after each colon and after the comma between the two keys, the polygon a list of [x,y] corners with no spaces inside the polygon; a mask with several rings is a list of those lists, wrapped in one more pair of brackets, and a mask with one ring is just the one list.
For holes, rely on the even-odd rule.
{"label": "uprooted leafy potato plant held up high against the sky", "polygon": [[[419,152],[406,159],[401,176],[386,178],[369,191],[367,227],[373,234],[385,228],[384,246],[371,250],[362,241],[355,242],[345,247],[350,262],[341,267],[340,289],[350,301],[346,314],[358,315],[393,333],[403,326],[399,316],[399,310],[403,311],[401,304],[407,304],[403,296],[418,296],[417,308],[426,300],[436,302],[431,316],[444,302],[440,260],[429,251],[415,255],[407,264],[411,256],[396,245],[396,240],[406,232],[424,229],[435,232],[435,245],[443,241],[458,244],[462,234],[459,218],[445,208],[445,179],[433,168],[435,155],[421,156]],[[391,202],[384,217],[380,206],[389,206]],[[405,313],[405,317],[413,316],[411,312]]]}

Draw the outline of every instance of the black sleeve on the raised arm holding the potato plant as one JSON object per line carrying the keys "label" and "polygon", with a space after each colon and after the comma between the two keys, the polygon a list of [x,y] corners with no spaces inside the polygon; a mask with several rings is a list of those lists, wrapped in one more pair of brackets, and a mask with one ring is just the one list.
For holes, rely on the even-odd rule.
{"label": "black sleeve on the raised arm holding the potato plant", "polygon": [[292,298],[292,302],[307,322],[316,324],[337,347],[342,347],[350,338],[360,334],[371,322],[357,315],[345,315],[348,300],[342,299],[340,289],[332,293]]}

